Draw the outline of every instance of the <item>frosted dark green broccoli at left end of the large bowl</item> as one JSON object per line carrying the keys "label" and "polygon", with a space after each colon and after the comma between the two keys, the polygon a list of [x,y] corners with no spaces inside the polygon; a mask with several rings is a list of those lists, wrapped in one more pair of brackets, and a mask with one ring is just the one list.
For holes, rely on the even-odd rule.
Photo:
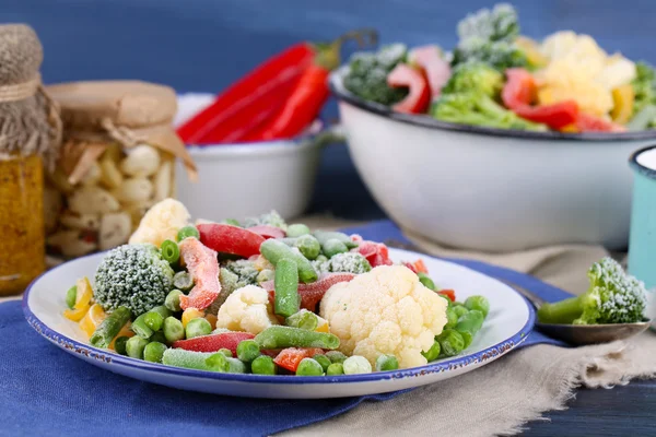
{"label": "frosted dark green broccoli at left end of the large bowl", "polygon": [[383,105],[393,105],[408,95],[408,88],[387,85],[387,74],[408,56],[402,44],[393,44],[377,52],[359,52],[351,57],[344,86],[356,96]]}

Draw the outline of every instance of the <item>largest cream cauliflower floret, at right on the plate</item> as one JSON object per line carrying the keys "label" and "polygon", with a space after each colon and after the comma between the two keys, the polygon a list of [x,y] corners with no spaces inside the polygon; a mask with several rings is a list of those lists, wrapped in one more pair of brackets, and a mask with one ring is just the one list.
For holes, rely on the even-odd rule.
{"label": "largest cream cauliflower floret, at right on the plate", "polygon": [[394,354],[408,368],[426,364],[421,352],[446,324],[446,306],[407,267],[380,265],[330,287],[320,315],[344,354],[362,355],[372,365],[378,355]]}

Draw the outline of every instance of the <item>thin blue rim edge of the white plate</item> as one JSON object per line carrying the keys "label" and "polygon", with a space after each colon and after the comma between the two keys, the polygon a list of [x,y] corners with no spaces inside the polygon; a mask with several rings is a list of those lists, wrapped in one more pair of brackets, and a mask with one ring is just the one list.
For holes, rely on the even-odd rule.
{"label": "thin blue rim edge of the white plate", "polygon": [[[91,253],[82,258],[94,257],[98,253]],[[66,264],[66,263],[65,263]],[[63,335],[52,329],[50,329],[46,323],[44,323],[31,309],[30,309],[30,293],[32,292],[33,286],[36,282],[52,272],[56,269],[61,268],[65,264],[57,265],[49,271],[42,273],[38,277],[36,277],[23,295],[22,307],[23,314],[27,319],[27,322],[32,328],[37,331],[43,336],[47,338],[51,342],[60,343],[61,341],[66,342],[67,349],[72,349],[73,351],[84,351],[85,355],[93,357],[95,359],[105,361],[108,363],[113,363],[120,366],[126,366],[134,369],[142,370],[156,370],[163,374],[172,374],[177,376],[187,376],[187,377],[197,377],[197,378],[210,378],[210,379],[220,379],[225,381],[242,381],[242,382],[267,382],[267,383],[276,383],[276,385],[303,385],[303,383],[332,383],[332,382],[364,382],[364,381],[383,381],[390,379],[402,379],[409,377],[417,377],[425,374],[438,373],[448,369],[455,369],[464,366],[468,366],[470,363],[476,363],[480,361],[487,361],[491,357],[495,357],[500,354],[505,354],[511,350],[517,347],[522,344],[532,331],[535,322],[536,322],[536,310],[531,304],[523,297],[523,302],[526,304],[528,310],[528,319],[526,324],[522,327],[519,331],[517,331],[514,335],[508,339],[503,340],[500,343],[496,343],[490,347],[487,347],[477,353],[467,354],[462,356],[457,356],[452,359],[445,359],[432,364],[427,364],[425,366],[420,367],[411,367],[408,369],[400,370],[390,370],[390,371],[376,371],[372,374],[362,374],[362,375],[340,375],[340,376],[266,376],[266,375],[248,375],[248,374],[221,374],[214,371],[206,371],[206,370],[194,370],[181,367],[172,367],[172,366],[163,366],[161,364],[154,364],[144,362],[142,359],[130,358],[127,356],[118,355],[116,353],[112,353],[107,350],[102,350],[98,347],[94,347],[91,344],[81,343],[74,339],[71,339],[68,335]],[[481,273],[482,274],[482,273]],[[490,276],[491,277],[491,276]],[[496,281],[494,277],[491,277],[493,281]],[[516,292],[515,292],[516,293]],[[502,351],[500,351],[502,350]]]}

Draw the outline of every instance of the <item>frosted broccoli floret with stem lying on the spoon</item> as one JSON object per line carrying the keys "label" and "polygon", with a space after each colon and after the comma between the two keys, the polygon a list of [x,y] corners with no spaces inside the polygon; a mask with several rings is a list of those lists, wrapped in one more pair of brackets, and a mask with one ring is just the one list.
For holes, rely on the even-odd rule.
{"label": "frosted broccoli floret with stem lying on the spoon", "polygon": [[581,296],[554,304],[544,304],[538,310],[543,323],[632,323],[643,320],[646,291],[642,282],[628,275],[610,258],[593,264],[588,271],[590,286]]}

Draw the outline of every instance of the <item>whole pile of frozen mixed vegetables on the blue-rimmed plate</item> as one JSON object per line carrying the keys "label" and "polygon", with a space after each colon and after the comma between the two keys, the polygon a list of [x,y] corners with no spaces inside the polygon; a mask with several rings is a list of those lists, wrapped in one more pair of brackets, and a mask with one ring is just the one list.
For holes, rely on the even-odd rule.
{"label": "whole pile of frozen mixed vegetables on the blue-rimmed plate", "polygon": [[107,252],[63,316],[90,343],[206,371],[340,376],[422,366],[467,349],[490,303],[456,302],[422,260],[288,224],[276,212],[194,225],[166,199]]}

